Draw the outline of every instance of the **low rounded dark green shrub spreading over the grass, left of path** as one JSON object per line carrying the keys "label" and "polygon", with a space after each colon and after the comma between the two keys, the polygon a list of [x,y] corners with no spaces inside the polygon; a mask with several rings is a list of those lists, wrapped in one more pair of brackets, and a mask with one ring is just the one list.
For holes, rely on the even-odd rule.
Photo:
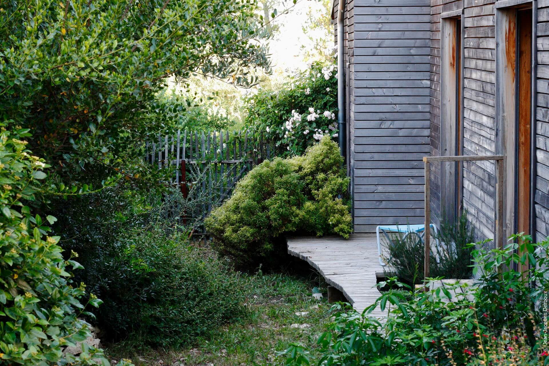
{"label": "low rounded dark green shrub spreading over the grass, left of path", "polygon": [[179,346],[243,314],[238,275],[186,240],[130,232],[100,250],[87,280],[104,301],[97,323],[115,340]]}

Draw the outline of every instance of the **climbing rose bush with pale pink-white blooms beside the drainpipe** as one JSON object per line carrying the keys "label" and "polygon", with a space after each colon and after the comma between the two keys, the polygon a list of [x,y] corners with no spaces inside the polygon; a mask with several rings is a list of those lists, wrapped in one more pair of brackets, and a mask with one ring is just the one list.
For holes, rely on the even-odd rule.
{"label": "climbing rose bush with pale pink-white blooms beside the drainpipe", "polygon": [[313,63],[280,91],[262,90],[247,100],[247,123],[282,156],[301,155],[324,136],[338,137],[337,70]]}

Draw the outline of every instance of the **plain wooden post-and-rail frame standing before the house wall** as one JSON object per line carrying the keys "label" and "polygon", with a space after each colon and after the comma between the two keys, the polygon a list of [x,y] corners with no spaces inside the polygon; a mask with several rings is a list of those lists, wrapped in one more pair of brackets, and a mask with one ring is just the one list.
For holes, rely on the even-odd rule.
{"label": "plain wooden post-and-rail frame standing before the house wall", "polygon": [[425,249],[424,249],[424,272],[423,278],[429,277],[429,260],[431,253],[431,206],[430,206],[430,163],[431,162],[446,162],[446,161],[480,161],[480,160],[494,160],[496,162],[496,230],[495,230],[495,244],[497,247],[503,247],[503,194],[505,192],[505,156],[503,155],[473,155],[473,156],[425,156],[423,162],[425,163]]}

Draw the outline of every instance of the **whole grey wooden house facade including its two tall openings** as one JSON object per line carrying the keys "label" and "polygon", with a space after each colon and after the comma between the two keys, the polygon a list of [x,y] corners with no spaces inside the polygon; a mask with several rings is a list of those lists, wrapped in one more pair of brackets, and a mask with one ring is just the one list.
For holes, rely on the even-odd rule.
{"label": "whole grey wooden house facade including its two tall openings", "polygon": [[[344,9],[355,232],[423,222],[423,156],[499,154],[505,234],[545,239],[549,0],[348,0]],[[478,237],[493,238],[494,170],[432,164],[434,221],[466,209]]]}

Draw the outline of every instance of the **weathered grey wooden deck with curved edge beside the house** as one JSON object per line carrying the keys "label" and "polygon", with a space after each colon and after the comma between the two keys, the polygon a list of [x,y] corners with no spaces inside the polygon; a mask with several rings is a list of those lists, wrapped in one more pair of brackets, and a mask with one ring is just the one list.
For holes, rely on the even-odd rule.
{"label": "weathered grey wooden deck with curved edge beside the house", "polygon": [[[378,260],[376,234],[340,237],[288,238],[288,253],[307,261],[330,286],[334,286],[362,312],[381,294],[376,288],[376,272],[383,272]],[[373,316],[383,318],[379,308]]]}

